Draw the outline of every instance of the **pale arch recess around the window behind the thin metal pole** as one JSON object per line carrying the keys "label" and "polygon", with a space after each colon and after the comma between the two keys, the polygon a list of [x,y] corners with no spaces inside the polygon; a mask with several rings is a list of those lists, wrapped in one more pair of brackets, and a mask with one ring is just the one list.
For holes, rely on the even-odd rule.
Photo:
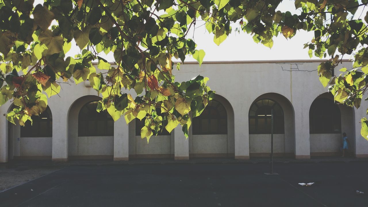
{"label": "pale arch recess around the window behind the thin metal pole", "polygon": [[[272,92],[257,97],[250,107],[261,99],[270,99],[277,102],[284,113],[284,134],[273,135],[274,155],[277,157],[293,157],[295,152],[295,115],[293,105],[283,95]],[[250,157],[268,157],[271,152],[270,134],[249,134],[249,152]]]}

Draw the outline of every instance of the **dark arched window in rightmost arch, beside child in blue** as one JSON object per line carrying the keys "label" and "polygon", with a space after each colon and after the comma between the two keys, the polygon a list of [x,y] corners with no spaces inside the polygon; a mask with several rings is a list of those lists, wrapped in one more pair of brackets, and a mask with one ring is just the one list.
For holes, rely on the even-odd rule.
{"label": "dark arched window in rightmost arch, beside child in blue", "polygon": [[333,100],[318,98],[313,101],[309,110],[309,133],[341,133],[341,113]]}

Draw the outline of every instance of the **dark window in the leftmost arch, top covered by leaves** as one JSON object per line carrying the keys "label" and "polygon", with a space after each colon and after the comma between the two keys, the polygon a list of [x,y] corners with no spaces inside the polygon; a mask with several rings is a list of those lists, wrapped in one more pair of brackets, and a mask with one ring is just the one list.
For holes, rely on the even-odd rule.
{"label": "dark window in the leftmost arch, top covered by leaves", "polygon": [[52,113],[47,106],[39,116],[32,116],[31,121],[26,121],[21,127],[21,137],[52,137]]}

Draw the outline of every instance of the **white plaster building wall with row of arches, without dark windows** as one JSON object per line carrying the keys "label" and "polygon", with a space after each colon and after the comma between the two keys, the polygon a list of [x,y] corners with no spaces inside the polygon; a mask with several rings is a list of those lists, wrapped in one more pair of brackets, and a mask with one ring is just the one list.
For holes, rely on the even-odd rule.
{"label": "white plaster building wall with row of arches, without dark windows", "polygon": [[[181,126],[178,126],[171,136],[152,136],[149,144],[145,139],[135,136],[135,124],[132,122],[127,125],[123,118],[114,123],[113,137],[78,137],[79,110],[86,102],[98,100],[99,96],[89,87],[88,81],[76,86],[65,84],[60,97],[53,96],[48,101],[53,114],[52,138],[25,138],[26,141],[17,143],[19,127],[9,128],[5,117],[0,118],[0,162],[7,162],[8,158],[22,154],[28,157],[51,156],[54,161],[67,161],[73,156],[100,156],[114,160],[148,155],[175,159],[189,159],[190,155],[230,156],[235,159],[268,156],[270,135],[250,134],[248,129],[250,107],[261,98],[275,99],[284,111],[285,133],[274,136],[276,153],[295,158],[310,158],[313,153],[336,153],[340,134],[309,134],[310,106],[317,97],[327,92],[317,76],[316,69],[320,62],[209,62],[201,67],[185,63],[180,71],[173,70],[177,75],[176,81],[187,81],[198,75],[209,77],[208,85],[216,91],[216,99],[227,110],[228,133],[192,135],[190,129],[189,137],[185,139]],[[351,67],[351,63],[344,62],[343,66]],[[366,101],[362,102],[359,109],[339,106],[342,131],[348,134],[351,150],[357,157],[368,157],[368,141],[360,136],[359,123],[366,114],[367,106]],[[10,107],[11,103],[7,102],[0,107],[0,113],[7,113]],[[32,148],[35,143],[45,148],[33,150],[36,149]]]}

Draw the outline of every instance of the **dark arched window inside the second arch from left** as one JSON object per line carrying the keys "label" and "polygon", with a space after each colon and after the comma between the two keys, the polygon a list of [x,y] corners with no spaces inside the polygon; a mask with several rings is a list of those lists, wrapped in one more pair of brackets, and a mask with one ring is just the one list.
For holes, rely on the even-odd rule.
{"label": "dark arched window inside the second arch from left", "polygon": [[97,101],[86,103],[79,111],[78,136],[113,136],[114,121],[106,111],[97,112]]}

